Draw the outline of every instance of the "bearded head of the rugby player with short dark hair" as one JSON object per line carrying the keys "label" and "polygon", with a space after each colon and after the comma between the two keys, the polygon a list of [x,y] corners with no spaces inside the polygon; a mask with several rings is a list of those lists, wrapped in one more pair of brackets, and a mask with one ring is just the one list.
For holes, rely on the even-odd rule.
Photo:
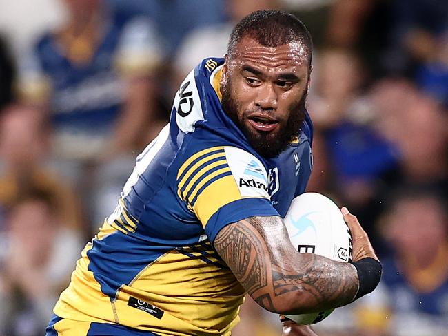
{"label": "bearded head of the rugby player with short dark hair", "polygon": [[232,31],[221,79],[223,108],[261,156],[278,156],[298,135],[311,59],[311,36],[291,14],[253,12]]}

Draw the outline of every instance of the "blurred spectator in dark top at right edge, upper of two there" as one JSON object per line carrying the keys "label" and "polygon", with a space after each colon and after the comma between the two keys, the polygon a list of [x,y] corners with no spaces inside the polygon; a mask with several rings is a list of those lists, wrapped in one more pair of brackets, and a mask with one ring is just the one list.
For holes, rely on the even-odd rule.
{"label": "blurred spectator in dark top at right edge, upper of two there", "polygon": [[409,81],[387,79],[371,93],[378,131],[400,155],[397,169],[384,176],[383,193],[401,185],[427,185],[448,196],[447,115],[434,99]]}

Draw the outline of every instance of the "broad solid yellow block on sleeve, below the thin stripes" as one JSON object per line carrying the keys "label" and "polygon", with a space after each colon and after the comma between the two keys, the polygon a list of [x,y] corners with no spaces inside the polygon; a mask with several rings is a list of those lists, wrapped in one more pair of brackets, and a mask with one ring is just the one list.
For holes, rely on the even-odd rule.
{"label": "broad solid yellow block on sleeve, below the thin stripes", "polygon": [[210,217],[225,204],[241,199],[241,193],[233,176],[225,176],[207,186],[193,205],[193,211],[203,227]]}

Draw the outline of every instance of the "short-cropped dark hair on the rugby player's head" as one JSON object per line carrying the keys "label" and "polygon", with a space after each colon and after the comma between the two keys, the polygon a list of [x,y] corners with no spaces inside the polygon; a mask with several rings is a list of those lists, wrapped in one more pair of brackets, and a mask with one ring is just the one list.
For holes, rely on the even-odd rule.
{"label": "short-cropped dark hair on the rugby player's head", "polygon": [[293,14],[281,10],[257,10],[244,17],[236,24],[230,34],[227,54],[234,54],[236,45],[249,36],[261,45],[267,47],[277,47],[292,41],[300,41],[305,44],[308,50],[308,61],[312,61],[312,38],[311,34],[302,21],[294,17]]}

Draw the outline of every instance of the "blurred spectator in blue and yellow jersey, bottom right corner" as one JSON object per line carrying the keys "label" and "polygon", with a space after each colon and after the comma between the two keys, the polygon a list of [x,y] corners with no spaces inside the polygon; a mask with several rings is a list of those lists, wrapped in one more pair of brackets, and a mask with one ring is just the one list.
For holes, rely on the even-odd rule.
{"label": "blurred spectator in blue and yellow jersey, bottom right corner", "polygon": [[447,335],[446,198],[431,190],[404,189],[381,228],[394,254],[383,259],[378,291],[358,303],[361,335]]}

